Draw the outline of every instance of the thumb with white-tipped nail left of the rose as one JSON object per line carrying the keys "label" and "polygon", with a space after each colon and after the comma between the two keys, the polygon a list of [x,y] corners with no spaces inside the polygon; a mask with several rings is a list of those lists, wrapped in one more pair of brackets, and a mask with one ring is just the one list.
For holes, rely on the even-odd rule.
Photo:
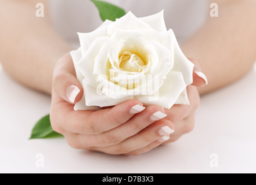
{"label": "thumb with white-tipped nail left of the rose", "polygon": [[56,64],[52,86],[57,95],[70,103],[82,98],[82,86],[75,77],[75,69],[70,54],[62,57]]}

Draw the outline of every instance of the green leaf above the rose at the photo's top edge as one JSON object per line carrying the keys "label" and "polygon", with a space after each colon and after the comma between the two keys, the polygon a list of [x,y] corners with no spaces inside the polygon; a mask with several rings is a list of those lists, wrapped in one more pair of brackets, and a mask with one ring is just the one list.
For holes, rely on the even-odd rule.
{"label": "green leaf above the rose at the photo's top edge", "polygon": [[112,5],[110,3],[98,0],[91,1],[97,6],[100,17],[103,21],[106,19],[110,21],[116,21],[116,18],[120,18],[126,14],[124,9],[121,9],[118,6]]}

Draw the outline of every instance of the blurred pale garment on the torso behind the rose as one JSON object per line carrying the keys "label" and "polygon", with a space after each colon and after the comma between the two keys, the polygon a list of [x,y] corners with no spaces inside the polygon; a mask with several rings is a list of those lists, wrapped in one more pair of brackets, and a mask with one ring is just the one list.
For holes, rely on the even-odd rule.
{"label": "blurred pale garment on the torso behind the rose", "polygon": [[[131,11],[137,17],[164,10],[167,29],[182,42],[203,25],[210,6],[208,0],[102,0]],[[53,24],[68,40],[78,42],[77,32],[91,32],[102,24],[98,9],[90,0],[50,0]]]}

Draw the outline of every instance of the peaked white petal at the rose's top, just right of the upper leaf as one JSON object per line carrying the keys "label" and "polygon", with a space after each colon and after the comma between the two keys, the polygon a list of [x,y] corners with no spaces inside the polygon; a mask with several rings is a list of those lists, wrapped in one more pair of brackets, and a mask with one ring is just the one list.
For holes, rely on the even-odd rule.
{"label": "peaked white petal at the rose's top, just right of the upper leaf", "polygon": [[137,18],[133,13],[128,12],[125,16],[118,18],[107,29],[107,34],[113,35],[117,29],[152,29],[149,24]]}

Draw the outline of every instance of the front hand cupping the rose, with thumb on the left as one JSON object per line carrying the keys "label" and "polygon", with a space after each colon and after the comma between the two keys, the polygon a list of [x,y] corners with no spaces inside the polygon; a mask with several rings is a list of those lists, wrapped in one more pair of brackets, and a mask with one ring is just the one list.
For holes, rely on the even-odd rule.
{"label": "front hand cupping the rose, with thumb on the left", "polygon": [[163,117],[157,105],[143,107],[132,99],[113,108],[74,110],[82,98],[82,87],[75,77],[70,54],[57,62],[53,74],[51,124],[77,149],[109,154],[140,154],[169,139],[174,125]]}

